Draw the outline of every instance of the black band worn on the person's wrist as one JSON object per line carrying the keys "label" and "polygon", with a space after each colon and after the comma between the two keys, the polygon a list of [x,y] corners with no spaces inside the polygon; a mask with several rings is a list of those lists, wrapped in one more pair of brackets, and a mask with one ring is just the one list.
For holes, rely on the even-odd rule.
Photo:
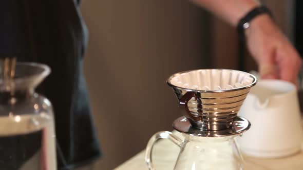
{"label": "black band worn on the person's wrist", "polygon": [[254,19],[256,16],[264,13],[267,13],[272,17],[271,11],[266,6],[262,5],[252,9],[249,13],[247,13],[239,20],[237,31],[241,40],[245,39],[244,30],[250,27],[251,20]]}

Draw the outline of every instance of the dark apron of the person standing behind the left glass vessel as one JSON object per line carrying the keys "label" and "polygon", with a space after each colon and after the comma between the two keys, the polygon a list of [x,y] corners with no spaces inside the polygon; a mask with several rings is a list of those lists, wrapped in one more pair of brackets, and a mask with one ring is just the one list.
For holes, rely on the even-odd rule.
{"label": "dark apron of the person standing behind the left glass vessel", "polygon": [[19,61],[45,63],[51,68],[37,92],[45,95],[54,108],[59,169],[90,163],[101,154],[82,71],[88,33],[78,2],[8,2],[14,9],[8,8],[8,18],[0,18],[20,22],[8,23],[4,27],[7,30],[0,29],[11,33],[0,42],[0,46],[8,44],[5,49],[0,47],[0,57],[17,56]]}

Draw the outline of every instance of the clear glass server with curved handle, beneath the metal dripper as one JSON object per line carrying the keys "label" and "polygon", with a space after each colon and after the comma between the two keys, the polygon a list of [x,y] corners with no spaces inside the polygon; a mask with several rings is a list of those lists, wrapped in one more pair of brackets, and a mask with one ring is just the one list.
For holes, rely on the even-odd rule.
{"label": "clear glass server with curved handle, beneath the metal dripper", "polygon": [[146,147],[145,161],[149,169],[155,169],[151,153],[155,142],[159,139],[169,139],[180,147],[180,153],[175,163],[175,170],[239,170],[244,162],[235,142],[238,135],[223,137],[201,137],[181,133],[183,139],[163,131],[153,135]]}

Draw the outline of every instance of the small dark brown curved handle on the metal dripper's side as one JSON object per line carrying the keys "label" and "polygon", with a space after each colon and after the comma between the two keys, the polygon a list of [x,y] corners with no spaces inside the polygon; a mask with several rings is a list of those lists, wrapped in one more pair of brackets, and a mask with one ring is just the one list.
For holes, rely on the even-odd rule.
{"label": "small dark brown curved handle on the metal dripper's side", "polygon": [[199,121],[199,117],[195,117],[191,114],[191,111],[188,109],[188,101],[191,100],[191,98],[195,97],[197,99],[196,93],[195,92],[186,92],[181,98],[180,98],[180,109],[182,114],[187,118],[187,119],[192,119],[194,121]]}

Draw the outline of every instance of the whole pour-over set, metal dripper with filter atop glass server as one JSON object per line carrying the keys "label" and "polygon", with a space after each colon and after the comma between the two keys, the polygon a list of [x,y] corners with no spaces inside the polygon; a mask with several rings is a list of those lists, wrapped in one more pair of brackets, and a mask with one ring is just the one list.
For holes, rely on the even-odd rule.
{"label": "whole pour-over set, metal dripper with filter atop glass server", "polygon": [[180,103],[183,116],[173,128],[184,139],[171,132],[158,132],[148,141],[145,162],[155,169],[151,152],[159,139],[169,139],[180,147],[175,163],[180,169],[243,169],[244,162],[235,137],[250,128],[250,122],[237,116],[238,111],[257,82],[255,76],[237,70],[193,70],[167,79]]}

